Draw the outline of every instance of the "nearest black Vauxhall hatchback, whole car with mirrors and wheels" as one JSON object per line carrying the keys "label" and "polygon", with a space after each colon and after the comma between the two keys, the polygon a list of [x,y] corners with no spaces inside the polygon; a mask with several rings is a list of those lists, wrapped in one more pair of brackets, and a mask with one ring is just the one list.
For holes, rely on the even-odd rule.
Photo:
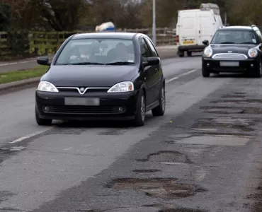
{"label": "nearest black Vauxhall hatchback, whole car with mirrors and wheels", "polygon": [[140,33],[72,35],[58,49],[35,92],[35,119],[129,119],[144,125],[145,113],[165,112],[165,78],[159,54]]}

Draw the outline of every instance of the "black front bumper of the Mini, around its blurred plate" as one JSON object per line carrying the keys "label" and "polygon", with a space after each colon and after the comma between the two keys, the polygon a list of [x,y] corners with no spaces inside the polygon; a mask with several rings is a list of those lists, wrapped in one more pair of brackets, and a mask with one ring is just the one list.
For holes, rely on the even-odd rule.
{"label": "black front bumper of the Mini, around its blurred plate", "polygon": [[[225,60],[221,60],[225,61]],[[212,58],[202,58],[202,68],[210,73],[253,73],[258,70],[259,59],[246,59],[238,61],[239,66],[220,66],[220,60]]]}

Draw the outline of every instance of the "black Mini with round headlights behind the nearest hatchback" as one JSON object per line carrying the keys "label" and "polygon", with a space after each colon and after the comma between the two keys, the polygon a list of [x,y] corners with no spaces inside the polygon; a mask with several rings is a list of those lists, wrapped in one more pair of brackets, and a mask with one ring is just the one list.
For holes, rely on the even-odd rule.
{"label": "black Mini with round headlights behind the nearest hatchback", "polygon": [[210,73],[245,73],[260,78],[262,35],[256,25],[229,26],[217,30],[202,57],[202,75]]}

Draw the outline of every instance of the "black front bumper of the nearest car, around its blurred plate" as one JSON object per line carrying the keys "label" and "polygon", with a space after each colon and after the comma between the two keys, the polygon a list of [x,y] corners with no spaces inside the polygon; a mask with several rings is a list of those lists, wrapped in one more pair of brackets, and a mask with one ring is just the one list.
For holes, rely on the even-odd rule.
{"label": "black front bumper of the nearest car, around its blurred plate", "polygon": [[[139,90],[129,93],[48,93],[36,90],[35,107],[41,119],[134,119]],[[99,106],[65,105],[65,97],[100,98]]]}

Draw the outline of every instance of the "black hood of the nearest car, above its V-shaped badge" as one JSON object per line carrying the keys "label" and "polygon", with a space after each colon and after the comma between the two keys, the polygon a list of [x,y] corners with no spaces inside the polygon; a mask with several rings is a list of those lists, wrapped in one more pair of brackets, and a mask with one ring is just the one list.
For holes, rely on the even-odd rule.
{"label": "black hood of the nearest car, above its V-shaped badge", "polygon": [[51,66],[41,81],[57,87],[111,87],[121,81],[130,81],[137,66]]}

